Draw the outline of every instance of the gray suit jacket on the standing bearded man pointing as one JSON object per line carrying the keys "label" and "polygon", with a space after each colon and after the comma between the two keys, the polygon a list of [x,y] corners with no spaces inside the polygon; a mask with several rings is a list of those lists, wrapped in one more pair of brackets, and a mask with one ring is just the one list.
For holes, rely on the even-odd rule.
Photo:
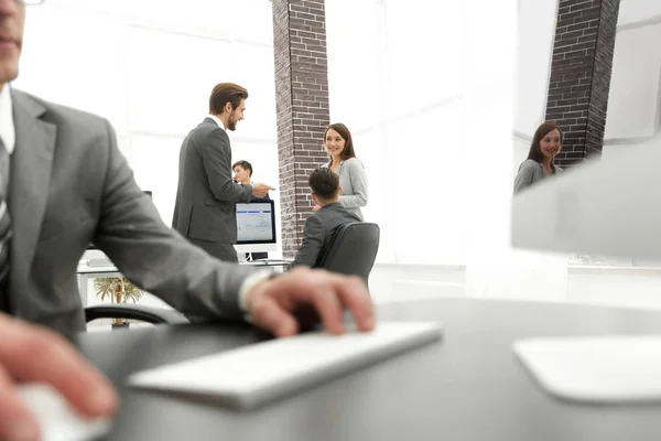
{"label": "gray suit jacket on the standing bearded man pointing", "polygon": [[250,202],[252,185],[231,179],[229,138],[205,118],[184,139],[172,227],[185,237],[237,243],[237,202]]}

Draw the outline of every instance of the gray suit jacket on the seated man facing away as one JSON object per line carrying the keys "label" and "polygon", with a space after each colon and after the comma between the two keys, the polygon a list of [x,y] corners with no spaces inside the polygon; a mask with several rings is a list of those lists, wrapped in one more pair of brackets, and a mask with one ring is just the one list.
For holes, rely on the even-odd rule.
{"label": "gray suit jacket on the seated man facing away", "polygon": [[318,212],[311,214],[305,219],[301,248],[299,248],[299,252],[296,252],[296,257],[289,268],[297,265],[311,268],[317,267],[322,256],[330,245],[335,230],[350,222],[361,222],[361,219],[339,202],[324,205]]}

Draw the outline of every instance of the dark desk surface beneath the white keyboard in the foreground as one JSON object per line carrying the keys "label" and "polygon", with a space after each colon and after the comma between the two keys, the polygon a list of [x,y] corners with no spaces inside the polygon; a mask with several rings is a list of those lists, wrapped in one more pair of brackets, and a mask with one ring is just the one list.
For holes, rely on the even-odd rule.
{"label": "dark desk surface beneath the white keyboard in the foreground", "polygon": [[248,412],[123,386],[132,372],[264,338],[248,326],[154,326],[78,344],[122,396],[109,440],[661,439],[661,404],[556,400],[510,348],[528,336],[661,333],[661,313],[453,299],[394,303],[379,316],[440,321],[445,340]]}

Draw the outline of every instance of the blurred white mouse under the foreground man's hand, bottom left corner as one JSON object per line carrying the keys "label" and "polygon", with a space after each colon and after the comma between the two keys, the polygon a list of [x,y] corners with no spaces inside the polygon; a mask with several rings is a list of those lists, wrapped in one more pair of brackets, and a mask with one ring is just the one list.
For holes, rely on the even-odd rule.
{"label": "blurred white mouse under the foreground man's hand, bottom left corner", "polygon": [[42,441],[86,441],[110,431],[109,418],[86,419],[79,416],[50,385],[20,385],[18,395],[36,418]]}

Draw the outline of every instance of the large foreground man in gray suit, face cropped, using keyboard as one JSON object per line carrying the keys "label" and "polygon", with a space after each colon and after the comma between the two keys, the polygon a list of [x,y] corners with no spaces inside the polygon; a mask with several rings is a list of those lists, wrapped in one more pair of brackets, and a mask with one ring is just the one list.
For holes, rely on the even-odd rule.
{"label": "large foreground man in gray suit, face cropped, using keyboard", "polygon": [[373,327],[358,278],[310,270],[271,278],[209,257],[163,224],[107,120],[10,88],[24,18],[22,0],[0,0],[0,438],[39,437],[15,381],[47,381],[85,415],[116,408],[108,383],[61,337],[4,315],[65,334],[84,330],[76,267],[90,243],[136,284],[198,319],[249,315],[286,336],[299,331],[294,312],[312,309],[339,334],[349,309],[359,330]]}

